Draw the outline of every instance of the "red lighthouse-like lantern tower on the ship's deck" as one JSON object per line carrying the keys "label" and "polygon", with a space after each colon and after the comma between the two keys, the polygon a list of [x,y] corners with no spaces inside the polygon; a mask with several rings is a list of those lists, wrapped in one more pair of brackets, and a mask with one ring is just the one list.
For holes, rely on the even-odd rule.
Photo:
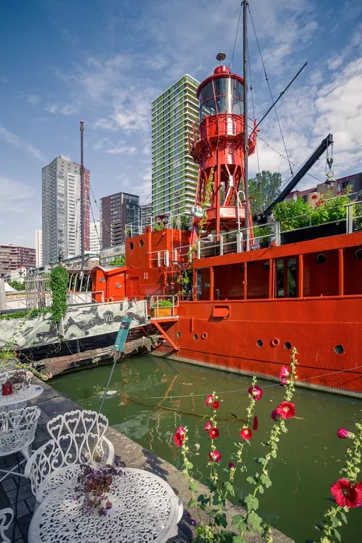
{"label": "red lighthouse-like lantern tower on the ship's deck", "polygon": [[[197,89],[199,128],[194,125],[189,152],[199,163],[192,241],[245,226],[244,80],[221,63]],[[250,122],[248,156],[255,152],[255,122]],[[251,216],[249,211],[251,224]]]}

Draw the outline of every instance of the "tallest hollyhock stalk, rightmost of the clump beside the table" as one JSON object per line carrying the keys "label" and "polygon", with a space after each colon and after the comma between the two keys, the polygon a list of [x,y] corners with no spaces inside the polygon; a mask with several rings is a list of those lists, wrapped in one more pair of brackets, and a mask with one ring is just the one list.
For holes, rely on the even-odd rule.
{"label": "tallest hollyhock stalk, rightmost of the clump beside the table", "polygon": [[[293,347],[291,351],[291,370],[288,375],[288,383],[286,383],[285,387],[285,393],[284,393],[284,402],[291,402],[293,398],[293,394],[295,392],[294,387],[294,381],[297,378],[296,373],[296,364],[298,363],[296,359],[297,350],[295,347]],[[268,440],[269,450],[267,452],[267,455],[265,457],[259,458],[259,464],[262,465],[262,470],[260,473],[257,473],[255,477],[250,477],[247,480],[249,482],[252,482],[252,484],[255,485],[255,490],[253,494],[250,494],[250,499],[248,499],[249,496],[246,496],[245,498],[245,506],[246,506],[246,516],[245,516],[245,527],[243,530],[240,531],[240,537],[243,538],[244,532],[250,531],[250,527],[247,524],[247,521],[249,520],[250,515],[253,513],[254,517],[257,515],[256,510],[259,507],[259,502],[257,501],[257,505],[255,504],[255,499],[257,496],[257,493],[263,493],[264,492],[264,486],[265,488],[269,488],[271,486],[271,480],[269,479],[269,472],[267,469],[267,466],[271,460],[271,458],[276,458],[276,451],[278,450],[277,442],[279,441],[279,434],[281,432],[287,432],[288,428],[286,428],[286,423],[284,419],[276,420],[275,424],[273,425],[273,428],[271,429],[270,438]],[[261,489],[261,490],[260,490]],[[258,515],[257,515],[258,516]],[[250,518],[251,520],[251,518]],[[262,521],[262,519],[260,519]],[[269,543],[272,542],[273,539],[271,537],[271,530],[269,525],[264,524],[263,525],[263,534],[262,537],[265,542]]]}

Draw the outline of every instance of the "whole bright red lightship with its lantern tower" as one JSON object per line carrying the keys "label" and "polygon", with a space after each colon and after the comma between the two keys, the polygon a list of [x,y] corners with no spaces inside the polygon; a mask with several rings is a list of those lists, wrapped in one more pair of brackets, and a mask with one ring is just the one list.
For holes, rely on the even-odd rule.
{"label": "whole bright red lightship with its lantern tower", "polygon": [[[143,331],[163,337],[154,354],[276,379],[295,346],[298,384],[362,395],[357,204],[327,225],[283,232],[274,221],[259,226],[264,235],[248,228],[245,149],[255,150],[257,131],[245,122],[243,83],[218,66],[197,91],[192,230],[148,227],[127,238],[125,267],[93,269],[94,297],[149,300]],[[331,142],[329,135],[314,161]]]}

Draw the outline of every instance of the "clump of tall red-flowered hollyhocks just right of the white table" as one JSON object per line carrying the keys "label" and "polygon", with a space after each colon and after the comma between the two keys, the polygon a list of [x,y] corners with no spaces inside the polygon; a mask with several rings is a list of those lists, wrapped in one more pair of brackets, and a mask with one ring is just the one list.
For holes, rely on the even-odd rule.
{"label": "clump of tall red-flowered hollyhocks just right of the white table", "polygon": [[[183,472],[189,483],[189,490],[192,496],[188,506],[194,507],[197,510],[198,520],[192,521],[192,524],[197,525],[197,541],[206,543],[247,543],[249,539],[246,539],[246,532],[248,535],[259,532],[265,543],[271,543],[273,541],[269,523],[264,522],[257,513],[259,508],[257,494],[264,494],[264,490],[269,489],[271,486],[268,469],[269,463],[277,456],[281,434],[288,431],[286,420],[291,419],[296,414],[294,404],[291,402],[295,391],[294,382],[297,378],[296,354],[297,351],[293,348],[291,365],[283,366],[281,369],[281,385],[285,387],[284,401],[281,402],[276,409],[271,411],[273,426],[271,428],[269,440],[267,443],[264,443],[264,445],[268,447],[267,454],[255,459],[260,466],[259,471],[254,476],[247,477],[247,482],[252,485],[253,490],[239,501],[240,505],[245,508],[245,515],[233,516],[231,525],[234,531],[232,531],[232,527],[228,526],[228,519],[226,518],[224,508],[226,506],[227,496],[230,494],[230,496],[235,497],[235,489],[233,486],[235,474],[239,471],[246,471],[243,462],[243,449],[245,443],[250,445],[250,440],[258,430],[259,421],[257,416],[254,416],[255,403],[262,399],[263,390],[257,386],[257,379],[253,378],[252,385],[247,390],[249,405],[247,407],[246,423],[240,431],[241,441],[240,443],[235,443],[236,452],[233,452],[233,454],[230,455],[230,460],[232,461],[228,463],[228,467],[223,468],[225,472],[228,472],[226,481],[221,481],[221,476],[219,474],[221,454],[218,452],[215,445],[216,440],[220,436],[216,421],[216,414],[220,407],[220,402],[215,392],[206,398],[206,407],[211,407],[211,416],[209,416],[209,421],[204,428],[210,437],[210,450],[208,454],[210,474],[207,479],[207,484],[209,486],[209,492],[207,494],[201,494],[197,497],[196,492],[198,483],[192,477],[193,465],[192,462],[189,461],[190,448],[188,445],[189,438],[187,435],[187,428],[185,426],[180,426],[180,428],[177,429],[174,441],[177,447],[181,448]],[[204,522],[202,519],[202,511],[208,516],[208,522]]]}

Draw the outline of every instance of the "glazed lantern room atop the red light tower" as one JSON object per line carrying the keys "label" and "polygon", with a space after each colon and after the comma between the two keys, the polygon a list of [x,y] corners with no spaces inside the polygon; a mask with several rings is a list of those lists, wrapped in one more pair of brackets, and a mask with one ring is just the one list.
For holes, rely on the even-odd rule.
{"label": "glazed lantern room atop the red light tower", "polygon": [[199,118],[217,113],[243,115],[243,84],[238,79],[222,77],[209,81],[199,93]]}

